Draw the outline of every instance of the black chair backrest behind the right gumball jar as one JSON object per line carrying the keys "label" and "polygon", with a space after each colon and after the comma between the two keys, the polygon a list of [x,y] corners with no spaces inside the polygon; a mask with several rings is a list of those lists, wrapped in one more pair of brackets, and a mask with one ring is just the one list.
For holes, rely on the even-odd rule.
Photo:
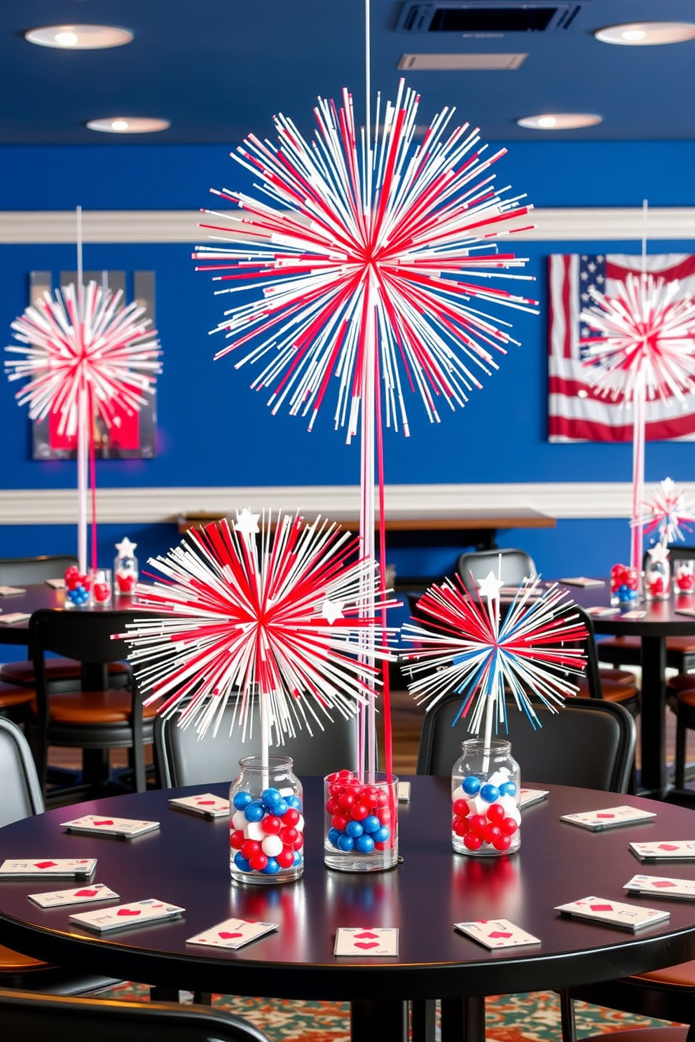
{"label": "black chair backrest behind the right gumball jar", "polygon": [[[454,720],[463,696],[445,695],[425,715],[418,752],[418,774],[449,775],[471,737]],[[635,721],[622,705],[598,698],[570,698],[553,714],[536,705],[542,727],[533,730],[516,705],[507,705],[512,755],[522,782],[573,785],[606,792],[626,792],[635,758]]]}

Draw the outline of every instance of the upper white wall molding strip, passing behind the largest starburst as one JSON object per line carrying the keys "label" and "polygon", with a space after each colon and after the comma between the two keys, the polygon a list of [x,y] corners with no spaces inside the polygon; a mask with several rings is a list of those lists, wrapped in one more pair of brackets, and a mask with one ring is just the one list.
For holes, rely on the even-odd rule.
{"label": "upper white wall molding strip, passing behind the largest starburst", "polygon": [[[85,243],[206,243],[207,233],[198,224],[205,217],[188,209],[95,209],[82,215]],[[645,230],[651,240],[695,239],[695,207],[566,207],[533,209],[535,227],[515,233],[519,241],[572,242],[641,240]],[[73,210],[0,212],[0,244],[74,243]]]}

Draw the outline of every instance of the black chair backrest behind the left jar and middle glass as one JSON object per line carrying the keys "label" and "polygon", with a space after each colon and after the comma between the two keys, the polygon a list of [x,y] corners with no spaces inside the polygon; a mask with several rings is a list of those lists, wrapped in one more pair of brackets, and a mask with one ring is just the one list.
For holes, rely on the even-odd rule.
{"label": "black chair backrest behind the left jar and middle glass", "polygon": [[[253,708],[253,737],[242,741],[242,729],[238,724],[229,734],[233,705],[227,705],[217,736],[212,728],[199,739],[195,727],[177,726],[177,717],[158,717],[154,723],[154,750],[157,770],[163,788],[171,789],[185,785],[213,782],[230,782],[239,774],[241,756],[249,756],[259,751],[260,722],[257,706]],[[297,730],[294,738],[288,738],[284,745],[276,746],[273,752],[292,756],[295,774],[329,774],[344,767],[354,769],[356,748],[356,718],[344,720],[336,715],[331,722],[322,719],[324,730],[313,723],[313,735],[307,730]]]}

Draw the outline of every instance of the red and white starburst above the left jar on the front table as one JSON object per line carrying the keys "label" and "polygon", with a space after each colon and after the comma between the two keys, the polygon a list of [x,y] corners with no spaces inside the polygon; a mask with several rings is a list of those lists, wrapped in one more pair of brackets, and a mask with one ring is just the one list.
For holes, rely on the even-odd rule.
{"label": "red and white starburst above the left jar on the front table", "polygon": [[[258,521],[260,524],[258,525]],[[378,569],[358,557],[358,541],[318,518],[244,510],[227,520],[190,530],[166,556],[150,560],[165,581],[136,588],[139,609],[157,618],[139,620],[125,635],[145,704],[215,731],[231,699],[232,727],[250,735],[252,704],[260,696],[267,743],[281,744],[296,727],[312,733],[321,717],[355,715],[378,672],[375,660],[393,661],[394,630],[359,618],[361,588],[368,582],[381,612],[395,602],[379,596]],[[377,645],[365,661],[359,638],[374,631]]]}

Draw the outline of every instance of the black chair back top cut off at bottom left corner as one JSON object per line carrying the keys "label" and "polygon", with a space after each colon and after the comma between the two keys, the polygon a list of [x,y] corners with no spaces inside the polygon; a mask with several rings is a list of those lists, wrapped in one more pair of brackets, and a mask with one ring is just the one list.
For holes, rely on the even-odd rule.
{"label": "black chair back top cut off at bottom left corner", "polygon": [[222,1010],[0,990],[2,1042],[268,1042]]}

